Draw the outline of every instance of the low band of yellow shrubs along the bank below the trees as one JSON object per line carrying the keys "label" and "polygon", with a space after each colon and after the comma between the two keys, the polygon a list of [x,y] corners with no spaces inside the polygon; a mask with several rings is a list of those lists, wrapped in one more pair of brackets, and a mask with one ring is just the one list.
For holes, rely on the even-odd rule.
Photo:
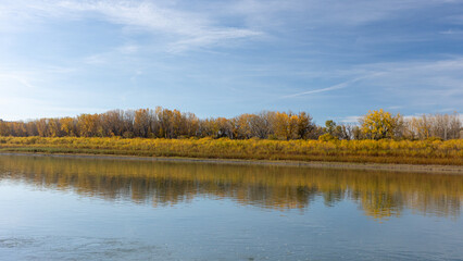
{"label": "low band of yellow shrubs along the bank below the trees", "polygon": [[0,137],[0,150],[250,160],[463,165],[463,140],[268,140]]}

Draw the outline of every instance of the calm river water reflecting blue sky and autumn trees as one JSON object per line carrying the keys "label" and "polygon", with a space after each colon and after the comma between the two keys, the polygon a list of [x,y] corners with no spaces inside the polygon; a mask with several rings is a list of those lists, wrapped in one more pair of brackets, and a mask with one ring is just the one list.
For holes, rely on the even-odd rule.
{"label": "calm river water reflecting blue sky and autumn trees", "polygon": [[1,260],[463,260],[463,176],[0,156]]}

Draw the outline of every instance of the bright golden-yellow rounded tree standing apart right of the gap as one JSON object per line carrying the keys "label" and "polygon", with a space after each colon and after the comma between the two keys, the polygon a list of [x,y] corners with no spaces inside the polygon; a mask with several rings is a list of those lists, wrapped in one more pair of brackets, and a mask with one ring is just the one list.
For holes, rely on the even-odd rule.
{"label": "bright golden-yellow rounded tree standing apart right of the gap", "polygon": [[392,115],[383,109],[370,111],[360,121],[362,133],[371,139],[392,138],[400,119],[400,114]]}

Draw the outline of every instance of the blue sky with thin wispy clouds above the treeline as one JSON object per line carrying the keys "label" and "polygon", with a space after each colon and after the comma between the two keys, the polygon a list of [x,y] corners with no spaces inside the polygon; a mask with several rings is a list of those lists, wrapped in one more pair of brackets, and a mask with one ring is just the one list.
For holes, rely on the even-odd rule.
{"label": "blue sky with thin wispy clouds above the treeline", "polygon": [[1,0],[0,119],[463,113],[463,0]]}

